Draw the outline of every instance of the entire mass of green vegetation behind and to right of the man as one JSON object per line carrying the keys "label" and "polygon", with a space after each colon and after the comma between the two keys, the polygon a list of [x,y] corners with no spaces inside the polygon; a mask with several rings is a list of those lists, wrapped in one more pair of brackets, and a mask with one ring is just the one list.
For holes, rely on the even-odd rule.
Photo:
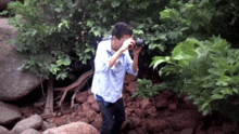
{"label": "entire mass of green vegetation behind and to right of the man", "polygon": [[164,80],[154,85],[139,79],[135,96],[187,92],[203,115],[217,110],[236,122],[237,113],[228,112],[239,105],[238,5],[237,0],[25,0],[9,8],[17,14],[10,24],[20,31],[13,44],[23,69],[68,78],[77,61],[89,64],[92,39],[108,38],[123,21],[146,40],[139,66],[151,65]]}

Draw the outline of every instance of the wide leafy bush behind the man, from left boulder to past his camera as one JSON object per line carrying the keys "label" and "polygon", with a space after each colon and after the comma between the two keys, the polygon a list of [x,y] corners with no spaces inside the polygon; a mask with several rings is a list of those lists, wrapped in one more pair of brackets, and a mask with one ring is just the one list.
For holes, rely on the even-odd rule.
{"label": "wide leafy bush behind the man, from left boulder to past his camera", "polygon": [[[185,28],[160,19],[160,12],[169,1],[150,0],[25,0],[10,4],[10,24],[17,28],[13,41],[23,56],[23,69],[47,78],[68,77],[70,65],[86,64],[93,53],[90,40],[109,37],[112,26],[120,21],[134,27],[135,36],[148,44],[142,51],[140,66],[148,67],[154,55],[165,55],[176,45]],[[81,31],[87,34],[81,39]],[[185,38],[184,38],[185,39]]]}

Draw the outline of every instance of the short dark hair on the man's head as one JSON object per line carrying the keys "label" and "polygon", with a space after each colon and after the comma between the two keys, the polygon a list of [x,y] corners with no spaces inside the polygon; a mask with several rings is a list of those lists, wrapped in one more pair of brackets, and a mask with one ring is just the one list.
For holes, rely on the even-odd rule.
{"label": "short dark hair on the man's head", "polygon": [[133,28],[124,22],[118,22],[114,25],[114,29],[112,31],[112,37],[115,36],[118,40],[124,35],[133,35]]}

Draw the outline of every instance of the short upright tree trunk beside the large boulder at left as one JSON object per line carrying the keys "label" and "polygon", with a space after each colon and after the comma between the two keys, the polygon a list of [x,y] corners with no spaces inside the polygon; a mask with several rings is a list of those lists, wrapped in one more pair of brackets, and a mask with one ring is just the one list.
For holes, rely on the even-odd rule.
{"label": "short upright tree trunk beside the large boulder at left", "polygon": [[51,73],[48,80],[48,94],[47,94],[47,102],[43,111],[45,115],[51,115],[53,112],[53,91],[54,91],[53,81],[54,81],[54,77]]}

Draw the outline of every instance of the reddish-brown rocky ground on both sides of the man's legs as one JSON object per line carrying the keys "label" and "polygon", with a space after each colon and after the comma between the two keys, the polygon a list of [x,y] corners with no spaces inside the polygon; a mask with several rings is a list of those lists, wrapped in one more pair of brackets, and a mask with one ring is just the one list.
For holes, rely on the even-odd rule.
{"label": "reddish-brown rocky ground on both sides of the man's legs", "polygon": [[[127,86],[137,84],[136,79],[125,83],[127,84],[125,84],[123,98],[126,121],[123,124],[122,134],[236,134],[238,131],[235,130],[234,123],[223,116],[203,117],[198,112],[197,107],[186,99],[186,95],[179,98],[168,91],[162,91],[153,98],[133,98],[135,89],[127,89]],[[79,92],[76,95],[76,102],[75,107],[70,109],[71,104],[66,99],[62,108],[54,108],[54,116],[45,120],[58,126],[84,121],[100,130],[102,117],[90,89]],[[29,117],[34,112],[40,115],[42,108],[26,105],[22,107],[22,112],[24,117]]]}

